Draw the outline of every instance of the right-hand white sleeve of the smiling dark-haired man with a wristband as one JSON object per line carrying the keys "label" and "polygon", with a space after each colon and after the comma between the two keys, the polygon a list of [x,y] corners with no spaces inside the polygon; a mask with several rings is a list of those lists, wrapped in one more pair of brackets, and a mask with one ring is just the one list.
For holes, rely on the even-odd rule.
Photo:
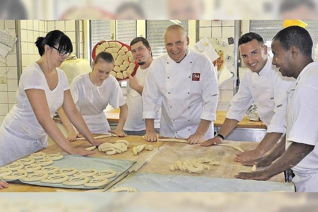
{"label": "right-hand white sleeve of the smiling dark-haired man with a wristband", "polygon": [[267,126],[267,132],[286,132],[286,110],[288,103],[288,92],[294,78],[276,75],[274,84],[274,115]]}

